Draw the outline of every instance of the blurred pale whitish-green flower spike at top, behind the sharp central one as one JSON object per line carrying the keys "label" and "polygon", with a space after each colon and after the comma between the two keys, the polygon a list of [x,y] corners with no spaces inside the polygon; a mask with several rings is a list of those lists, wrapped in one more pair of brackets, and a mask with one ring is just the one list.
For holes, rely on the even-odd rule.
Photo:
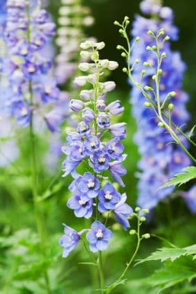
{"label": "blurred pale whitish-green flower spike at top, behind the sharp central one", "polygon": [[63,0],[61,2],[56,39],[60,53],[56,57],[55,68],[59,85],[66,83],[74,76],[79,62],[78,46],[84,37],[82,27],[93,24],[93,17],[89,16],[89,8],[82,6],[80,1]]}

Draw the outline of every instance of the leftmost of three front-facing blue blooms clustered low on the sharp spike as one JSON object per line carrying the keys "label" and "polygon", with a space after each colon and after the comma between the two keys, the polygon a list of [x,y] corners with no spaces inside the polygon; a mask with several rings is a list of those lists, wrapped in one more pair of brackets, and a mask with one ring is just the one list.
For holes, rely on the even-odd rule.
{"label": "leftmost of three front-facing blue blooms clustered low on the sharp spike", "polygon": [[93,214],[93,200],[87,200],[82,195],[75,195],[69,198],[67,206],[74,209],[74,214],[77,218],[91,218]]}

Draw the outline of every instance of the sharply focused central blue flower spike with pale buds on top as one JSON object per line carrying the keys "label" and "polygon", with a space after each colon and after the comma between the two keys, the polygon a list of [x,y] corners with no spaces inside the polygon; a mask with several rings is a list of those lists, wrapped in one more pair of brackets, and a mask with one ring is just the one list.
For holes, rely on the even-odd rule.
{"label": "sharply focused central blue flower spike with pale buds on top", "polygon": [[[106,250],[112,232],[100,222],[100,213],[114,214],[116,220],[126,230],[130,227],[127,218],[132,214],[132,208],[125,203],[126,195],[116,191],[112,178],[121,186],[125,186],[121,177],[126,170],[122,162],[125,159],[124,147],[121,140],[126,137],[125,123],[112,124],[112,115],[123,112],[120,101],[106,104],[105,94],[115,88],[113,81],[100,81],[105,69],[114,70],[117,62],[100,60],[99,51],[105,47],[103,42],[82,42],[81,54],[87,55],[91,62],[79,64],[81,71],[88,75],[75,78],[75,85],[83,87],[89,83],[92,89],[82,89],[80,99],[70,101],[70,108],[81,113],[77,132],[68,132],[66,145],[62,148],[66,159],[63,162],[64,176],[71,173],[74,180],[69,186],[73,196],[67,206],[73,209],[78,218],[96,220],[87,231],[87,241],[92,252]],[[80,163],[89,165],[83,175],[76,172]],[[64,256],[69,254],[78,244],[80,234],[65,227],[65,235],[60,240],[64,247]]]}

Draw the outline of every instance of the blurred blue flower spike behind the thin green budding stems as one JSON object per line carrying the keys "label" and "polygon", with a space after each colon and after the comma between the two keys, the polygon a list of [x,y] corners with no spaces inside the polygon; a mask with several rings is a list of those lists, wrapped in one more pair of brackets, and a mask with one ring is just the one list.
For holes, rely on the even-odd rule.
{"label": "blurred blue flower spike behind the thin green budding stems", "polygon": [[[161,1],[144,0],[141,2],[141,10],[144,14],[152,15],[152,18],[136,15],[132,28],[133,42],[136,38],[139,40],[139,37],[141,37],[141,40],[139,45],[133,46],[132,49],[131,63],[134,66],[132,76],[138,83],[141,82],[142,78],[142,85],[147,91],[151,91],[149,93],[152,93],[152,95],[149,95],[151,95],[153,101],[154,81],[152,76],[154,68],[157,67],[157,57],[153,53],[153,50],[156,50],[154,38],[148,34],[148,31],[157,33],[163,28],[166,35],[170,35],[171,40],[177,40],[178,30],[172,24],[172,10],[168,7],[162,7]],[[166,39],[169,40],[169,37],[166,36]],[[189,118],[186,110],[188,95],[181,89],[185,64],[181,61],[179,53],[171,50],[170,42],[162,42],[161,54],[160,100],[163,102],[169,93],[169,110],[172,112],[172,121],[181,127]],[[132,114],[138,126],[134,141],[139,146],[141,153],[138,205],[152,209],[173,189],[169,187],[159,190],[159,187],[175,173],[181,171],[181,168],[188,166],[190,160],[180,146],[170,144],[170,134],[164,128],[157,126],[159,119],[154,117],[154,110],[151,107],[146,107],[148,103],[144,105],[143,95],[138,87],[132,89],[131,103]],[[167,103],[166,107],[167,111]],[[187,146],[187,141],[183,140],[184,145]]]}

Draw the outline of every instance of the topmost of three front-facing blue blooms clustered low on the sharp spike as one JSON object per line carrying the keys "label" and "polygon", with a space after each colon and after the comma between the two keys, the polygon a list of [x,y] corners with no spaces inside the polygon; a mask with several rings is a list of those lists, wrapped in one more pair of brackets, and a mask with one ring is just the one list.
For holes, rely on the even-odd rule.
{"label": "topmost of three front-facing blue blooms clustered low on the sharp spike", "polygon": [[87,172],[75,181],[76,187],[87,198],[98,196],[100,182],[91,173]]}

